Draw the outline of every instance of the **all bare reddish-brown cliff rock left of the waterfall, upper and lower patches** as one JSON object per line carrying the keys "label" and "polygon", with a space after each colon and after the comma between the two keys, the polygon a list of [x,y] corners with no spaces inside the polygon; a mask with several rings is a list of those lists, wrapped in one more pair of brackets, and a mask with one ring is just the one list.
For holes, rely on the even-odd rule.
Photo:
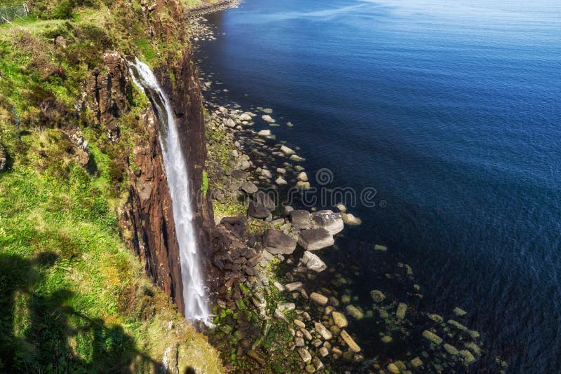
{"label": "all bare reddish-brown cliff rock left of the waterfall, upper and lower patches", "polygon": [[[87,92],[96,125],[110,141],[119,140],[119,117],[130,112],[132,85],[128,63],[117,53],[104,55],[105,69],[90,77]],[[123,238],[142,258],[147,275],[184,310],[179,246],[168,181],[163,167],[159,124],[151,108],[138,118],[138,134],[132,150],[134,170],[128,168],[128,200],[119,208]]]}

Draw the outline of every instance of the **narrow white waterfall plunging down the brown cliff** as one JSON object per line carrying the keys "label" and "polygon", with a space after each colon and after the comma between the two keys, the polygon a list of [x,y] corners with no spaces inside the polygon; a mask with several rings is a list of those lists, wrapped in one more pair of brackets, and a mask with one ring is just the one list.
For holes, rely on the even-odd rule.
{"label": "narrow white waterfall plunging down the brown cliff", "polygon": [[151,99],[161,127],[160,144],[172,198],[175,233],[180,246],[185,317],[190,321],[203,321],[208,324],[210,313],[194,234],[187,162],[177,134],[173,109],[148,65],[136,59],[130,66],[133,68],[130,69],[133,82],[143,88]]}

